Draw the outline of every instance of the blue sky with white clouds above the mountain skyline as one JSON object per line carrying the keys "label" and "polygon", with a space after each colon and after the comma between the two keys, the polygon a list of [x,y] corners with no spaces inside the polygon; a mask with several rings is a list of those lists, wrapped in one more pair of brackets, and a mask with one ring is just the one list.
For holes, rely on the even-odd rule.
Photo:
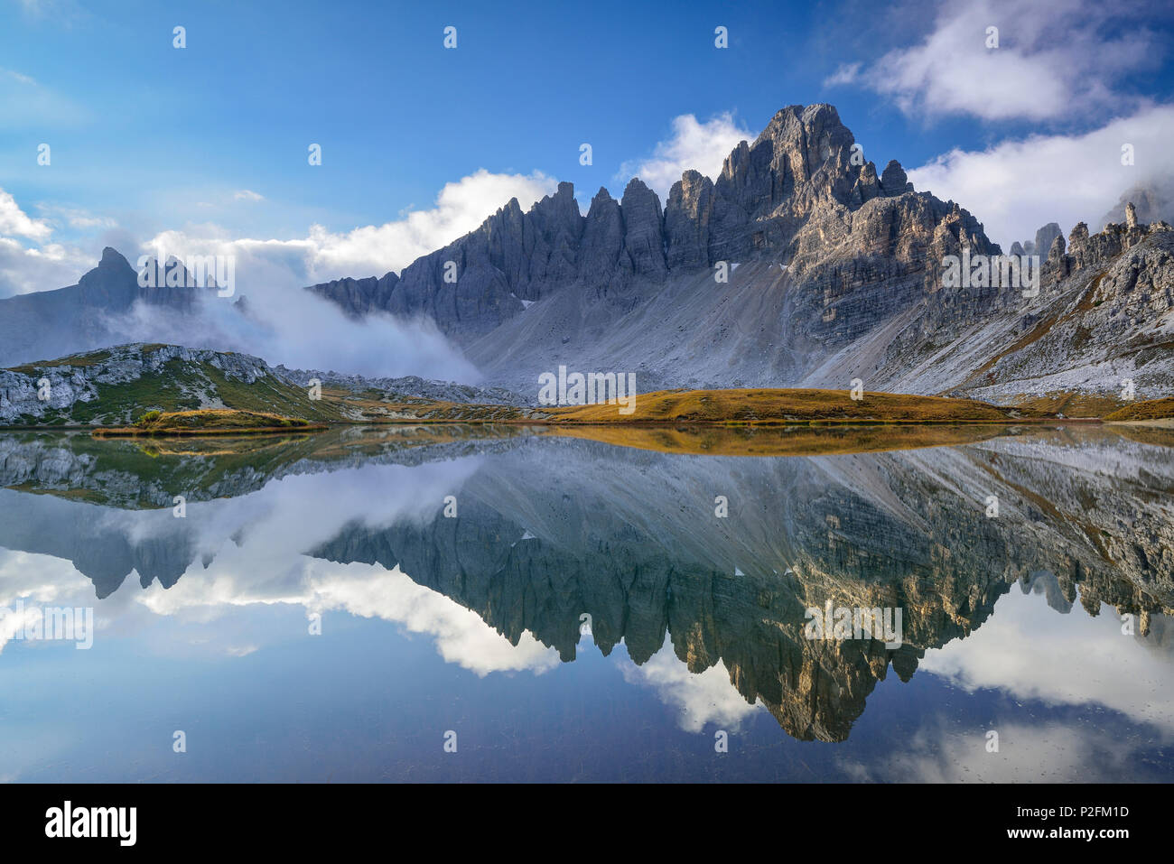
{"label": "blue sky with white clouds above the mountain skyline", "polygon": [[[633,173],[713,174],[776,110],[816,101],[997,241],[1067,231],[1174,168],[1158,153],[1172,45],[1168,11],[1085,0],[0,0],[0,296],[68,284],[108,243],[268,244],[294,282],[398,270],[512,194],[572,181],[586,208]],[[1141,142],[1136,171],[1113,164],[1122,136]]]}

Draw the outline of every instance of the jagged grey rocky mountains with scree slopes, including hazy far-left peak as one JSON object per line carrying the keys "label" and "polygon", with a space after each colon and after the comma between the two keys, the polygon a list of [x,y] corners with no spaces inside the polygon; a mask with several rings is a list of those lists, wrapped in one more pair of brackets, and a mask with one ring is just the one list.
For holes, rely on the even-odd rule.
{"label": "jagged grey rocky mountains with scree slopes, including hazy far-left peak", "polygon": [[[533,405],[539,377],[566,365],[633,372],[640,392],[859,379],[1000,404],[1072,393],[1113,404],[1167,396],[1174,374],[1174,230],[1132,204],[1122,214],[1097,234],[1080,223],[1065,239],[1050,223],[1017,242],[1014,255],[1040,256],[1037,284],[947,284],[949,258],[1001,254],[983,225],[913,190],[896,161],[878,171],[832,106],[789,106],[716,180],[686,171],[663,208],[633,178],[619,201],[600,189],[585,216],[561,183],[528,211],[507,202],[399,276],[309,290],[355,318],[431,318],[485,376],[473,399]],[[109,344],[103,322],[135,303],[182,315],[191,302],[134,276],[108,249],[77,286],[0,301],[0,356]]]}

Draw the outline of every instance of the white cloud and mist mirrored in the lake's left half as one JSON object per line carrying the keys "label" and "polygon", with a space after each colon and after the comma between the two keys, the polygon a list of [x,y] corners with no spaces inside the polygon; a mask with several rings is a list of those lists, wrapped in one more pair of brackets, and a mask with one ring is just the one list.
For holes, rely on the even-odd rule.
{"label": "white cloud and mist mirrored in the lake's left half", "polygon": [[[103,509],[97,515],[103,536],[133,546],[190,542],[196,552],[170,588],[153,582],[140,590],[135,579],[127,579],[96,607],[97,627],[103,639],[140,636],[153,621],[167,620],[163,650],[181,650],[182,634],[194,652],[243,657],[272,648],[288,634],[262,626],[264,620],[256,615],[235,612],[301,607],[305,613],[380,619],[423,634],[446,662],[481,677],[546,673],[560,664],[553,648],[528,632],[512,644],[477,613],[414,582],[398,566],[389,571],[378,563],[336,563],[304,554],[352,525],[427,524],[436,517],[436,502],[459,492],[479,465],[479,459],[464,458],[291,474],[247,495],[191,502],[188,520],[174,519],[168,509]],[[33,522],[72,524],[70,513],[86,507],[48,495],[28,505],[23,497],[0,490],[0,518],[11,520],[19,508],[22,519]],[[29,506],[35,515],[29,515]],[[204,555],[210,559],[207,566]],[[0,609],[14,608],[18,599],[27,607],[93,606],[94,586],[68,560],[0,548]],[[19,627],[14,616],[0,614],[0,655]]]}

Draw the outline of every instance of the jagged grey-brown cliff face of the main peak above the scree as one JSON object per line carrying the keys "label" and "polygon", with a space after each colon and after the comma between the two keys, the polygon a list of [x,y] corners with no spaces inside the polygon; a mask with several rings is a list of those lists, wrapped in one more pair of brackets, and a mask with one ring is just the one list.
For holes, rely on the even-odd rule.
{"label": "jagged grey-brown cliff face of the main peak above the scree", "polygon": [[[834,107],[790,106],[753,143],[735,148],[716,180],[686,171],[663,211],[656,194],[633,178],[622,201],[601,189],[581,216],[573,187],[562,183],[528,212],[511,201],[477,231],[405,269],[398,283],[384,277],[313,290],[355,315],[424,312],[468,343],[519,317],[521,301],[568,285],[613,301],[630,295],[627,305],[619,302],[628,311],[666,278],[770,256],[791,262],[796,274],[812,271],[822,316],[862,284],[913,272],[908,288],[924,283],[933,276],[924,272],[929,251],[959,243],[994,249],[967,212],[913,193],[896,161],[878,177],[853,144]],[[872,202],[880,203],[862,210]],[[444,281],[450,261],[456,283]],[[905,301],[896,290],[888,303]],[[865,324],[844,320],[817,336],[844,337]]]}

